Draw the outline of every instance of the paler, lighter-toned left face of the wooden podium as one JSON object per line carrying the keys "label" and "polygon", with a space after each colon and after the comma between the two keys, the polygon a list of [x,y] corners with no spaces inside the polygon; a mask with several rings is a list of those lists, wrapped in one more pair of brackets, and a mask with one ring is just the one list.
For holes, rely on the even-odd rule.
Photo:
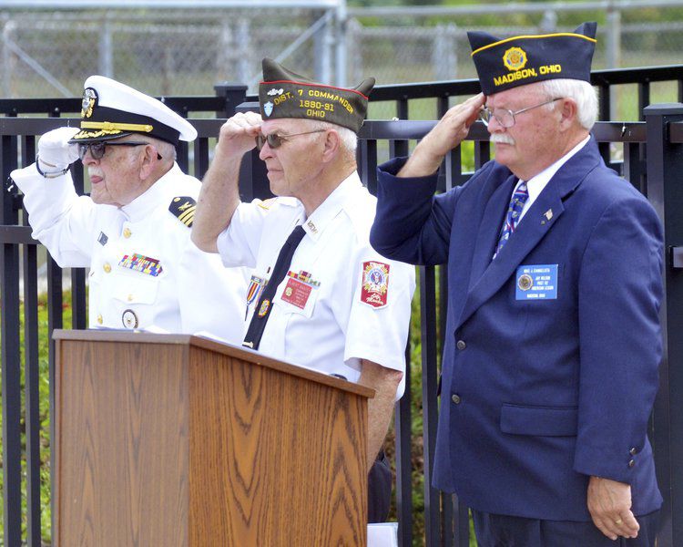
{"label": "paler, lighter-toned left face of the wooden podium", "polygon": [[58,545],[187,545],[187,350],[61,346]]}

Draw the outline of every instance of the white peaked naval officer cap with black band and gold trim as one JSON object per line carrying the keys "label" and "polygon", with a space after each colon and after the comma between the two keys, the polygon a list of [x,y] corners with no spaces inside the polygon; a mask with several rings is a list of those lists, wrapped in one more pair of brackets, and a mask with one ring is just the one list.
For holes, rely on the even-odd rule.
{"label": "white peaked naval officer cap with black band and gold trim", "polygon": [[118,139],[131,133],[178,145],[197,139],[197,130],[156,98],[109,77],[91,76],[84,84],[80,131],[69,140],[92,142]]}

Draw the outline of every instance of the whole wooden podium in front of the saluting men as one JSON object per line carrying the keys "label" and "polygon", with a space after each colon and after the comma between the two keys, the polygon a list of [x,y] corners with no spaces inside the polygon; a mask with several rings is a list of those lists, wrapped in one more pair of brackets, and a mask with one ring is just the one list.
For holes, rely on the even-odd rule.
{"label": "whole wooden podium in front of the saluting men", "polygon": [[365,545],[372,389],[196,336],[54,337],[58,547]]}

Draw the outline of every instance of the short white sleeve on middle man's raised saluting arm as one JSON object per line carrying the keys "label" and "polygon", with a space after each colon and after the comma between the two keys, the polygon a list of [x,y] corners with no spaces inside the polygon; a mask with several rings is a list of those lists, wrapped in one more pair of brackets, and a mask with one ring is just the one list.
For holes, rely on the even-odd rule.
{"label": "short white sleeve on middle man's raised saluting arm", "polygon": [[256,266],[263,225],[269,211],[268,201],[240,203],[228,228],[219,234],[216,241],[220,259],[226,267]]}

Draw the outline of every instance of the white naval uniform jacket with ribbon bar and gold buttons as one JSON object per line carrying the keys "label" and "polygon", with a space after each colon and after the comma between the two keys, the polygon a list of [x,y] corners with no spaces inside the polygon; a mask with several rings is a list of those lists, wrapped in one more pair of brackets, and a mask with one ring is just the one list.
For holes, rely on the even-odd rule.
{"label": "white naval uniform jacket with ribbon bar and gold buttons", "polygon": [[199,251],[169,211],[175,198],[199,195],[200,182],[178,165],[120,209],[78,197],[69,173],[45,179],[33,164],[12,179],[25,194],[33,237],[56,263],[90,267],[91,328],[205,332],[241,343],[249,275]]}

